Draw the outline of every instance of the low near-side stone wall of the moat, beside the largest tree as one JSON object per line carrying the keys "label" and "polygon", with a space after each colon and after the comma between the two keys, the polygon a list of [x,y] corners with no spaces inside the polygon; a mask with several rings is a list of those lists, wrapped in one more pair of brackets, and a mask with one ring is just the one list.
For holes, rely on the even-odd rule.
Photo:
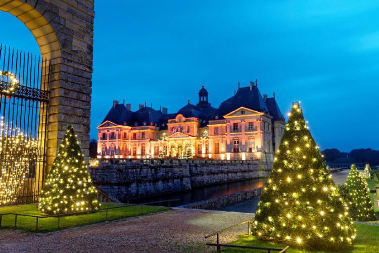
{"label": "low near-side stone wall of the moat, beside the largest tree", "polygon": [[235,192],[228,195],[179,206],[178,208],[219,210],[220,208],[228,207],[235,203],[240,203],[253,197],[260,196],[262,194],[262,188],[263,187],[258,187],[251,190]]}

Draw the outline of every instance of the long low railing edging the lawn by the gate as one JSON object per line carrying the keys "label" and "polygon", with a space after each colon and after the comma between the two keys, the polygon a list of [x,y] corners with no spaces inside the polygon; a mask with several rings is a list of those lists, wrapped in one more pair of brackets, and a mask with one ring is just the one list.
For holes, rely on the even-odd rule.
{"label": "long low railing edging the lawn by the gate", "polygon": [[2,220],[3,216],[6,215],[14,215],[15,216],[15,228],[17,227],[17,217],[18,216],[25,216],[25,217],[32,217],[36,218],[35,220],[35,230],[38,231],[38,219],[46,219],[46,218],[58,218],[58,229],[61,227],[61,217],[65,216],[72,216],[72,215],[79,215],[79,214],[90,214],[90,213],[97,213],[100,211],[106,211],[105,214],[105,220],[108,221],[108,210],[111,209],[119,209],[119,208],[128,208],[128,207],[136,207],[136,206],[141,206],[141,215],[144,214],[144,206],[147,206],[149,204],[157,204],[157,203],[164,203],[167,202],[167,210],[170,209],[170,201],[177,201],[180,199],[168,199],[168,200],[161,200],[161,201],[155,201],[155,202],[149,202],[149,203],[143,203],[143,204],[129,204],[129,205],[123,205],[119,207],[111,207],[111,208],[101,208],[98,210],[89,210],[89,211],[80,211],[80,212],[73,212],[73,213],[67,213],[67,214],[55,214],[55,215],[46,215],[46,216],[40,216],[40,215],[28,215],[28,214],[17,214],[17,213],[5,213],[5,214],[0,214],[0,228],[2,227]]}

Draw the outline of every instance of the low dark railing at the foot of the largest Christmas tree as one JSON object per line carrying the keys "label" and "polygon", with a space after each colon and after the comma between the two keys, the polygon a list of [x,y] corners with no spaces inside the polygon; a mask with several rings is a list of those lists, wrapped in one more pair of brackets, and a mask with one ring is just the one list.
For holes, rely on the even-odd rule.
{"label": "low dark railing at the foot of the largest Christmas tree", "polygon": [[224,228],[220,231],[214,232],[213,234],[207,235],[204,238],[208,239],[209,237],[215,236],[216,235],[216,243],[207,243],[208,246],[216,246],[217,247],[217,252],[221,252],[221,247],[230,247],[230,248],[247,248],[247,249],[261,249],[261,250],[267,250],[268,253],[271,253],[271,251],[279,251],[279,253],[286,253],[286,250],[290,246],[286,246],[285,248],[271,248],[271,247],[257,247],[257,246],[242,246],[242,245],[233,245],[233,244],[221,244],[219,240],[219,234],[230,230],[232,228],[241,226],[245,223],[248,224],[248,235],[250,235],[250,222],[252,222],[254,219],[250,219],[247,221],[243,221],[239,224],[235,224],[233,226],[230,226],[228,228]]}

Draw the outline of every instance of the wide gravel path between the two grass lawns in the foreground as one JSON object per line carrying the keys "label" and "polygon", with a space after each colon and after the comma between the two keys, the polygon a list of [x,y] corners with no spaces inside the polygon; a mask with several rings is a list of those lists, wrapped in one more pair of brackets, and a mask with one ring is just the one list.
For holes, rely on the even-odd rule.
{"label": "wide gravel path between the two grass lawns in the foreground", "polygon": [[[176,209],[48,234],[0,230],[0,252],[207,252],[204,236],[252,218],[252,214]],[[220,235],[235,240],[247,225]],[[207,241],[215,241],[215,238]]]}

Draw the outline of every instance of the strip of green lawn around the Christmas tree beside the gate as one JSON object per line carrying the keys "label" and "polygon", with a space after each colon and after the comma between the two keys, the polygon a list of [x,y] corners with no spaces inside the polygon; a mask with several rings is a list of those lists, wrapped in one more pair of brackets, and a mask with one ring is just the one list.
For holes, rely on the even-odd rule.
{"label": "strip of green lawn around the Christmas tree beside the gate", "polygon": [[[102,208],[110,208],[119,206],[117,204],[108,204],[102,203]],[[167,210],[165,207],[157,207],[157,206],[144,206],[144,215],[157,213]],[[42,215],[37,211],[36,204],[29,205],[18,205],[18,206],[10,206],[10,207],[0,207],[0,214],[4,213],[18,213],[18,214],[29,214],[29,215]],[[119,208],[119,209],[111,209],[108,210],[108,221],[110,220],[118,220],[127,217],[138,216],[141,214],[141,207],[127,207],[127,208]],[[106,211],[99,211],[91,214],[81,214],[74,216],[61,217],[60,227],[61,229],[69,228],[69,227],[77,227],[86,224],[99,223],[106,221]],[[17,217],[17,228],[27,230],[27,231],[35,231],[35,223],[36,218],[32,217]],[[2,219],[2,229],[4,228],[13,228],[15,225],[15,216],[14,215],[6,215]],[[58,218],[44,218],[38,219],[38,232],[51,232],[58,230]]]}

